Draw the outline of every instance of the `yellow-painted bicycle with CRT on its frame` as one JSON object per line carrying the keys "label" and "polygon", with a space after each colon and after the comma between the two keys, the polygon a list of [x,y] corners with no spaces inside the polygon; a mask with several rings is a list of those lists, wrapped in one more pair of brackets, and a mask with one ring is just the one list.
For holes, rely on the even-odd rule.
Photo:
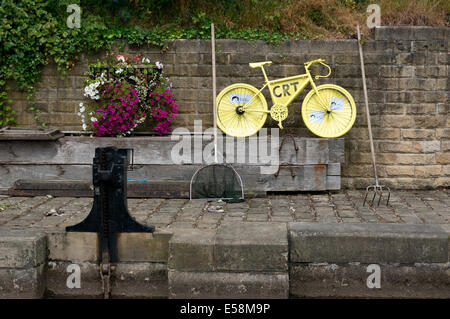
{"label": "yellow-painted bicycle with CRT on its frame", "polygon": [[[347,133],[356,119],[356,106],[353,97],[344,88],[334,84],[316,86],[309,72],[309,67],[320,63],[327,67],[327,75],[317,75],[315,79],[329,77],[331,68],[318,59],[306,62],[305,74],[269,81],[265,65],[272,61],[249,63],[251,68],[261,68],[266,81],[258,90],[252,85],[236,83],[223,89],[217,96],[217,126],[234,137],[246,137],[257,133],[266,122],[267,114],[278,122],[288,117],[288,105],[298,94],[311,84],[312,90],[306,95],[302,104],[302,118],[306,127],[320,137],[339,137]],[[270,110],[261,93],[269,88],[273,105]]]}

